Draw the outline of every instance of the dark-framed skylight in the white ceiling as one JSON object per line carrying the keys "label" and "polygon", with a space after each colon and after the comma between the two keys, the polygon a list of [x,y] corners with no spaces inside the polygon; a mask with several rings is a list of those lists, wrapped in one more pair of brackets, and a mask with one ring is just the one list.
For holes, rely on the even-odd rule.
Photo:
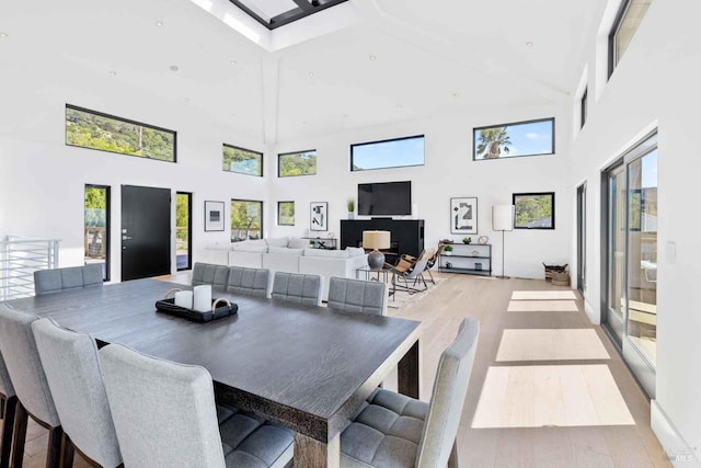
{"label": "dark-framed skylight in the white ceiling", "polygon": [[268,30],[301,20],[347,0],[229,0]]}

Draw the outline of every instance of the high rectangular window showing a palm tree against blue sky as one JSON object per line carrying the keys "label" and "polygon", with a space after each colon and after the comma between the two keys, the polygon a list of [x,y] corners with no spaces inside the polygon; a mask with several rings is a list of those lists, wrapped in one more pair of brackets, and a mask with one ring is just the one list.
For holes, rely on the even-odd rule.
{"label": "high rectangular window showing a palm tree against blue sky", "polygon": [[554,118],[479,127],[472,132],[472,159],[475,161],[554,152]]}

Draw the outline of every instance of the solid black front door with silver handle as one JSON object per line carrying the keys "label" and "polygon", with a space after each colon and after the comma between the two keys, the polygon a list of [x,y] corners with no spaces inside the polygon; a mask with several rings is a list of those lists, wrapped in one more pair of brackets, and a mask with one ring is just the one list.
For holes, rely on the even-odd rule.
{"label": "solid black front door with silver handle", "polygon": [[122,185],[122,281],[171,273],[171,191]]}

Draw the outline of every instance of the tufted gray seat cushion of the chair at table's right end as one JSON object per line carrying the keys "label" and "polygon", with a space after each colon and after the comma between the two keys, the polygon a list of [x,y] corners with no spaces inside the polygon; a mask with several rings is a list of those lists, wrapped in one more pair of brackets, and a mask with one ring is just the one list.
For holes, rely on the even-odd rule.
{"label": "tufted gray seat cushion of the chair at table's right end", "polygon": [[341,437],[341,466],[413,467],[428,403],[377,389]]}

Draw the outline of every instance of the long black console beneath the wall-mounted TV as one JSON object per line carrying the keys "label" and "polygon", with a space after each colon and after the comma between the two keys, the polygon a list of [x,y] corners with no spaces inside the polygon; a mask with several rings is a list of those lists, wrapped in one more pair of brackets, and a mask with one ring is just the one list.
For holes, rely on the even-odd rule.
{"label": "long black console beneath the wall-mounted TV", "polygon": [[[342,219],[341,249],[363,247],[363,231],[374,230],[391,232],[392,247],[383,250],[386,255],[409,253],[418,256],[424,250],[424,220],[392,218]],[[387,259],[389,263],[394,263],[395,260],[397,258],[391,256]]]}

